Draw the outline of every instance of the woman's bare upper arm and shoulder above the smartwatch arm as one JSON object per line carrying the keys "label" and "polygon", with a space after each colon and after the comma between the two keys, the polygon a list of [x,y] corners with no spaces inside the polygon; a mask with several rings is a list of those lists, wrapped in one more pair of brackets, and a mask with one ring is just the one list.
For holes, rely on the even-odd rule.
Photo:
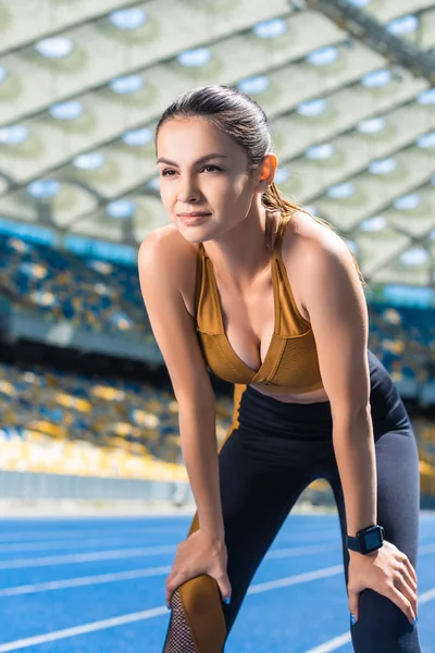
{"label": "woman's bare upper arm and shoulder above the smartwatch arm", "polygon": [[307,245],[301,280],[319,366],[334,420],[348,420],[370,402],[369,318],[353,259],[334,232]]}

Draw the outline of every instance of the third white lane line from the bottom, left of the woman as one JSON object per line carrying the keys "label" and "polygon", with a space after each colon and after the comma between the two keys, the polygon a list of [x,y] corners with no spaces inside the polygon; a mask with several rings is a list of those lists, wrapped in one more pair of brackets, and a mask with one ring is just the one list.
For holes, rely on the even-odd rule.
{"label": "third white lane line from the bottom, left of the woman", "polygon": [[160,555],[173,553],[175,546],[141,546],[138,549],[117,549],[113,551],[95,551],[92,553],[75,553],[71,555],[53,555],[36,558],[17,558],[16,560],[2,560],[0,569],[24,569],[25,567],[49,567],[65,565],[66,563],[94,563],[99,560],[114,560],[120,558],[141,557],[146,555]]}

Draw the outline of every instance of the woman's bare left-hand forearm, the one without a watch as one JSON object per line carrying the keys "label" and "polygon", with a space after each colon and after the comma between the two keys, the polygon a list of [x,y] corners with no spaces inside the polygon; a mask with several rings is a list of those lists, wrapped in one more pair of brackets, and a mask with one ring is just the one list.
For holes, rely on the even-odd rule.
{"label": "woman's bare left-hand forearm, the one without a watch", "polygon": [[182,451],[200,528],[224,540],[219,479],[215,409],[198,402],[179,411]]}

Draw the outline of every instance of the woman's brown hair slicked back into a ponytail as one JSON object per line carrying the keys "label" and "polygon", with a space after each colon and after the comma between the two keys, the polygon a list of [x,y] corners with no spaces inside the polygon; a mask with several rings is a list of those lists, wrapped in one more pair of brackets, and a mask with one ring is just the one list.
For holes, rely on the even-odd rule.
{"label": "woman's brown hair slicked back into a ponytail", "polygon": [[[202,86],[178,96],[162,113],[156,128],[156,140],[163,123],[177,116],[200,116],[212,122],[244,148],[248,156],[250,170],[258,168],[265,155],[272,151],[272,137],[266,114],[256,100],[235,88],[217,85]],[[322,218],[312,215],[303,207],[285,198],[274,183],[262,194],[261,201],[268,209],[281,211],[286,221],[291,219],[295,211],[302,211],[315,222],[335,232],[344,241],[332,224]],[[359,279],[362,285],[365,285],[357,259],[351,251],[350,255],[353,258]]]}

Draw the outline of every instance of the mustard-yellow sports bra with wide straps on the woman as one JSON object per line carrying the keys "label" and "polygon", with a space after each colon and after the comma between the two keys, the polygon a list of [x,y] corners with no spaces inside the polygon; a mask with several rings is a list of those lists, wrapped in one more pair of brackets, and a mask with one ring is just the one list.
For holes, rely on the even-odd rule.
{"label": "mustard-yellow sports bra with wide straps on the woman", "polygon": [[199,244],[195,292],[196,329],[209,369],[235,384],[268,385],[273,392],[304,393],[323,387],[311,324],[299,312],[282,259],[286,220],[272,251],[275,324],[265,358],[256,372],[234,352],[224,331],[213,263]]}

